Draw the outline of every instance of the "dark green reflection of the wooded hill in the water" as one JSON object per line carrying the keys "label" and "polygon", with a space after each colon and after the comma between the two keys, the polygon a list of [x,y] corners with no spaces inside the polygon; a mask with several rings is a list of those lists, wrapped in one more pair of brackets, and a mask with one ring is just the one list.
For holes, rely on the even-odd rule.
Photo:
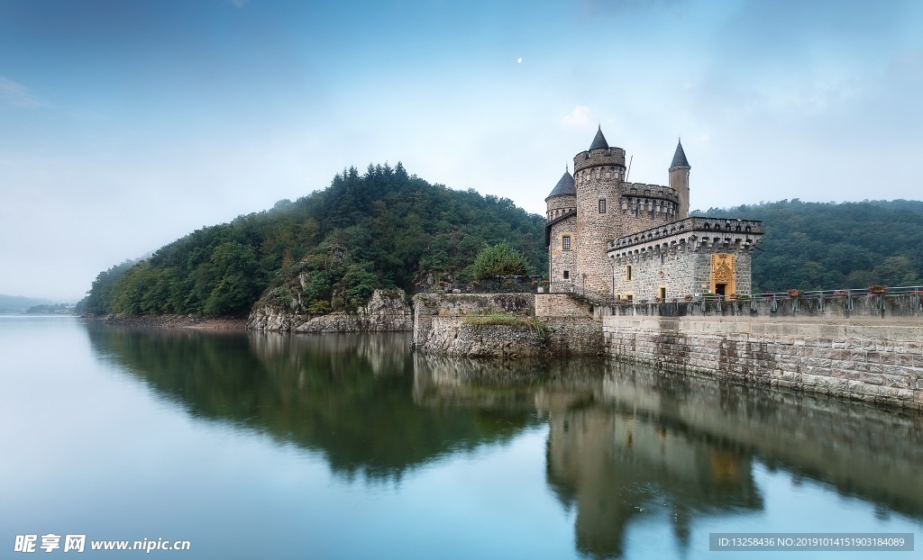
{"label": "dark green reflection of the wooded hill in the water", "polygon": [[280,336],[90,327],[114,360],[198,417],[324,453],[347,477],[400,480],[440,456],[509,440],[533,411],[414,404],[404,334]]}

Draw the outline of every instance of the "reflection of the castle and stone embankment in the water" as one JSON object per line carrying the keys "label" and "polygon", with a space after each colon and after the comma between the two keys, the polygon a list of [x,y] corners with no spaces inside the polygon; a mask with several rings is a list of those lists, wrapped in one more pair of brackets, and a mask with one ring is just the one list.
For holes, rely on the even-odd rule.
{"label": "reflection of the castle and stone embankment in the water", "polygon": [[414,375],[421,402],[531,404],[547,417],[547,482],[576,508],[584,554],[621,556],[645,517],[668,519],[685,549],[694,518],[760,512],[756,462],[871,502],[879,518],[923,518],[918,414],[593,360],[422,356]]}

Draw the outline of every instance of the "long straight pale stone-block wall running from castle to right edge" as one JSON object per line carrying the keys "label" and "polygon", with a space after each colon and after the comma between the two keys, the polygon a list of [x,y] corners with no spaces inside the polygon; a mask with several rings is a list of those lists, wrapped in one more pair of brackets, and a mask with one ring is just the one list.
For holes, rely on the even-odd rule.
{"label": "long straight pale stone-block wall running from castle to right edge", "polygon": [[607,316],[606,352],[692,374],[923,410],[919,320],[777,313]]}

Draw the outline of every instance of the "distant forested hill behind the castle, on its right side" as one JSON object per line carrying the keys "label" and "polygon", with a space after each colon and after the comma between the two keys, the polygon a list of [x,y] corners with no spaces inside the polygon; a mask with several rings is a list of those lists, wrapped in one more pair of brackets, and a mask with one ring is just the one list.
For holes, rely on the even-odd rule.
{"label": "distant forested hill behind the castle, on its right side", "polygon": [[762,220],[754,292],[913,286],[923,281],[923,202],[781,202],[697,215]]}

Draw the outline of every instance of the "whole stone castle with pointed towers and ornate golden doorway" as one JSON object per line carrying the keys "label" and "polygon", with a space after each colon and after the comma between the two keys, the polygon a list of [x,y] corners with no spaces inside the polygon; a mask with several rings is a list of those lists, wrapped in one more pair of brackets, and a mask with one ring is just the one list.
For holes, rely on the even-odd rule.
{"label": "whole stone castle with pointed towers and ornate golden doorway", "polygon": [[574,156],[573,170],[545,198],[552,292],[600,304],[749,295],[761,222],[690,217],[681,142],[669,186],[627,183],[625,150],[610,147],[602,127],[590,149]]}

